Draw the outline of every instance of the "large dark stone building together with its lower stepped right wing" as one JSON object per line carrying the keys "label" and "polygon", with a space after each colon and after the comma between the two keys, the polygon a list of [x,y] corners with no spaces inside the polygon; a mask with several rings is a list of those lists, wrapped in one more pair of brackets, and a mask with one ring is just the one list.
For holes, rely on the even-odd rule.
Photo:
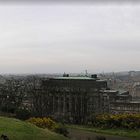
{"label": "large dark stone building together with its lower stepped right wing", "polygon": [[47,78],[34,94],[38,115],[72,123],[85,123],[96,114],[140,112],[140,103],[133,102],[129,92],[110,90],[96,75]]}

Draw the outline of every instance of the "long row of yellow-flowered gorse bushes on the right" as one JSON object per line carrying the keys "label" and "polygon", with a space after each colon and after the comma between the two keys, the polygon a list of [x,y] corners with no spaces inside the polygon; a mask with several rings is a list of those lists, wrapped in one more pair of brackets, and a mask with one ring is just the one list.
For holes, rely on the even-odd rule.
{"label": "long row of yellow-flowered gorse bushes on the right", "polygon": [[140,114],[102,114],[92,116],[90,121],[91,126],[99,128],[140,128]]}

